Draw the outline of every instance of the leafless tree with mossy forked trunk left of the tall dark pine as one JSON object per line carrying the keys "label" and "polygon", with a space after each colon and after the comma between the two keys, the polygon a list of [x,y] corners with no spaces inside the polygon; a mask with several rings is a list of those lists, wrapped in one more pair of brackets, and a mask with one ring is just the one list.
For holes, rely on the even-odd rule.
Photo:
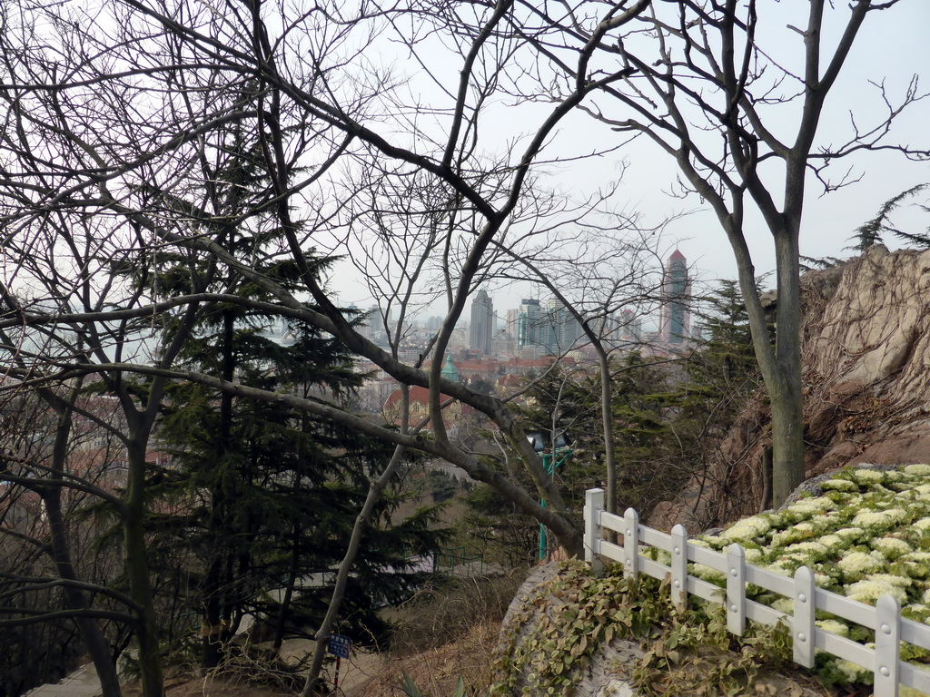
{"label": "leafless tree with mossy forked trunk left of the tall dark pine", "polygon": [[[150,361],[146,354],[160,339],[159,355],[153,362],[171,365],[201,306],[196,300],[177,304],[179,309],[170,319],[165,310],[175,306],[163,305],[161,311],[152,306],[157,296],[152,283],[159,270],[158,255],[166,250],[160,250],[160,243],[138,222],[125,215],[103,213],[95,198],[109,193],[126,201],[135,194],[137,210],[148,210],[150,199],[155,202],[152,205],[166,206],[153,196],[160,179],[177,181],[179,171],[198,161],[190,152],[169,149],[167,162],[150,167],[153,153],[146,150],[145,131],[152,126],[148,137],[163,133],[157,125],[160,119],[178,125],[179,114],[189,110],[185,109],[184,95],[175,89],[172,94],[180,103],[161,105],[164,109],[156,109],[157,116],[149,114],[151,121],[141,118],[137,108],[144,90],[131,81],[117,85],[110,71],[120,60],[127,61],[121,64],[126,69],[144,72],[144,68],[131,52],[115,52],[90,34],[74,33],[77,24],[72,22],[86,20],[80,10],[75,10],[75,17],[28,6],[18,7],[20,15],[14,16],[13,9],[5,7],[4,11],[7,33],[2,61],[8,85],[3,104],[9,127],[2,140],[2,181],[4,243],[16,264],[7,266],[0,296],[7,319],[7,373],[19,381],[7,381],[5,387],[16,392],[37,389],[46,396],[60,413],[60,448],[68,441],[76,395],[66,398],[66,390],[53,388],[68,386],[79,378],[73,375],[44,381],[39,375],[55,372],[53,366],[68,362],[85,363],[88,370],[84,373],[97,376],[95,388],[112,396],[118,405],[121,418],[115,423],[86,410],[82,416],[95,421],[123,447],[123,491],[98,489],[95,494],[113,506],[122,525],[129,586],[126,624],[132,626],[139,644],[143,691],[159,695],[164,686],[153,579],[146,554],[146,453],[167,378],[155,375],[140,384],[125,371],[90,366]],[[54,30],[42,33],[41,39],[33,33],[34,22],[39,21],[47,21],[47,28]],[[88,59],[95,54],[114,62]],[[78,67],[82,65],[84,69]],[[36,88],[54,85],[59,71],[72,72],[73,82],[68,84],[73,89]],[[187,158],[182,159],[185,154]],[[126,180],[117,171],[132,172],[138,179]],[[175,256],[178,254],[189,258],[193,270],[192,255],[184,250]],[[140,310],[140,304],[144,309]],[[44,322],[31,322],[33,312],[69,319],[43,326]],[[56,396],[55,400],[50,396]],[[47,488],[55,493],[78,485],[63,480]],[[59,563],[62,579],[74,583],[77,579],[66,556],[69,541],[53,539],[59,558],[64,560]],[[81,599],[75,595],[73,604]],[[82,620],[81,629],[93,649],[99,643],[94,626]],[[91,653],[108,693],[118,694],[113,657],[106,651]]]}

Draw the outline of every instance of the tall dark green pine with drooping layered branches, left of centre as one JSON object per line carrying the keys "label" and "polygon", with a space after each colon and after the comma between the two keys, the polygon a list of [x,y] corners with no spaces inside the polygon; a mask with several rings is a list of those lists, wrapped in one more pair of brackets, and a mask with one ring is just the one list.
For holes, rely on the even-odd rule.
{"label": "tall dark green pine with drooping layered branches, left of centre", "polygon": [[[273,255],[276,221],[251,213],[264,178],[260,153],[247,147],[247,136],[236,131],[228,147],[218,149],[204,197],[210,215],[186,201],[163,204],[198,221],[230,253],[254,259],[276,282],[297,287],[298,270]],[[273,303],[234,270],[193,254],[164,256],[160,264],[157,277],[140,280],[159,294],[221,290]],[[326,260],[317,260],[314,272],[325,270]],[[279,327],[284,338],[273,337]],[[350,395],[362,379],[332,337],[247,303],[205,305],[180,362],[227,382],[319,401]],[[176,384],[167,398],[158,435],[172,457],[151,488],[153,507],[165,509],[153,519],[153,551],[165,546],[178,556],[179,547],[186,550],[191,600],[203,619],[203,664],[212,667],[246,615],[266,619],[277,646],[286,629],[312,628],[319,620],[329,577],[365,499],[369,469],[388,455],[357,431],[283,403],[192,383]],[[166,502],[180,513],[168,513]],[[396,599],[415,580],[403,572],[406,553],[437,544],[427,512],[392,524],[395,503],[391,497],[382,503],[380,525],[368,535],[352,578],[345,607],[352,622],[343,631],[359,638],[381,628],[376,605]]]}

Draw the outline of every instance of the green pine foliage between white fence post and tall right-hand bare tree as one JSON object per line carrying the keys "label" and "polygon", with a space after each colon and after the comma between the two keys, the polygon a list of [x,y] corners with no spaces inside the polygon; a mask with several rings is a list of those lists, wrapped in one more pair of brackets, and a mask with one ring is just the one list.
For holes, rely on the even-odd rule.
{"label": "green pine foliage between white fence post and tall right-hand bare tree", "polygon": [[[672,500],[716,456],[761,378],[737,283],[725,281],[703,298],[697,328],[704,341],[672,361],[630,353],[611,362],[619,509],[648,513]],[[774,332],[772,333],[774,340]],[[584,490],[604,480],[600,376],[556,368],[527,392],[527,430],[565,429],[576,448],[556,473],[566,499],[580,510]]]}

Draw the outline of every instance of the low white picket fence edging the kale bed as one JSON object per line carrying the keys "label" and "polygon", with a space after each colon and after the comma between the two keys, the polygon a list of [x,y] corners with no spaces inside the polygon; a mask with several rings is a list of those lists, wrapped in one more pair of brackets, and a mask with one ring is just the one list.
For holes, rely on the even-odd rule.
{"label": "low white picket fence edging the kale bed", "polygon": [[[827,651],[871,671],[875,676],[875,697],[897,697],[899,684],[930,694],[930,671],[900,660],[902,641],[930,651],[930,626],[902,618],[897,598],[883,596],[872,607],[817,588],[814,574],[807,567],[798,569],[791,579],[746,563],[743,549],[738,545],[729,546],[725,553],[696,546],[688,542],[682,525],[672,528],[671,534],[660,533],[641,525],[632,508],[623,517],[604,510],[603,489],[591,489],[586,493],[584,519],[585,556],[595,572],[601,570],[600,558],[604,557],[621,562],[625,575],[645,573],[658,579],[671,576],[671,592],[677,594],[675,602],[679,607],[684,607],[688,595],[718,604],[725,602],[726,624],[733,634],[742,636],[747,620],[764,625],[778,622],[787,625],[793,638],[795,663],[812,667],[814,651]],[[623,546],[604,540],[605,530],[620,533]],[[644,557],[641,546],[666,550],[671,554],[671,566]],[[692,562],[723,572],[725,592],[718,585],[688,575],[688,564]],[[747,584],[793,600],[793,616],[747,598]],[[873,630],[875,648],[817,627],[814,624],[817,610]]]}

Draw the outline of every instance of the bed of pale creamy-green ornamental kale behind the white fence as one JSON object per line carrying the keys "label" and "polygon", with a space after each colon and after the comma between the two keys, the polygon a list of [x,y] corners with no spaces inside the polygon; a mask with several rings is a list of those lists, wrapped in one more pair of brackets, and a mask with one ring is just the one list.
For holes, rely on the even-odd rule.
{"label": "bed of pale creamy-green ornamental kale behind the white fence", "polygon": [[[788,576],[807,566],[818,586],[870,605],[891,594],[904,617],[930,625],[930,466],[847,468],[820,486],[819,496],[739,520],[694,542],[717,550],[737,543],[751,564]],[[722,573],[700,564],[691,573],[724,583]],[[777,610],[792,610],[790,600],[777,594],[754,587],[748,593]],[[864,627],[828,615],[817,624],[844,637],[871,639]],[[902,658],[930,663],[927,651],[909,645]],[[821,656],[825,662],[844,681],[870,681],[856,665]]]}

